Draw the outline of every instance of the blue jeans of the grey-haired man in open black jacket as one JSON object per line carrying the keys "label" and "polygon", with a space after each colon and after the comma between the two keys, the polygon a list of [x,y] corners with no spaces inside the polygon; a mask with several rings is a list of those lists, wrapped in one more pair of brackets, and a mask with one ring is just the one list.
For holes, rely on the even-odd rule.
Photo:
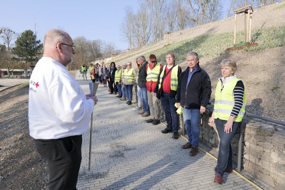
{"label": "blue jeans of the grey-haired man in open black jacket", "polygon": [[187,130],[188,142],[194,146],[199,145],[200,134],[200,110],[182,107],[184,123]]}

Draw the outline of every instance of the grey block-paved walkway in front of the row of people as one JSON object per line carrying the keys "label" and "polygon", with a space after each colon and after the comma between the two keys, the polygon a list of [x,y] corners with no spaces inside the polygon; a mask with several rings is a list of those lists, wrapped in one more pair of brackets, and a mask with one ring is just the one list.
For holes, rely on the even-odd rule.
{"label": "grey block-paved walkway in front of the row of people", "polygon": [[[78,80],[85,93],[88,81]],[[134,105],[126,105],[99,86],[94,108],[91,170],[89,132],[83,134],[78,189],[255,189],[235,173],[223,185],[213,183],[216,161],[200,151],[194,157],[181,149],[186,141],[162,134],[159,124],[147,124]]]}

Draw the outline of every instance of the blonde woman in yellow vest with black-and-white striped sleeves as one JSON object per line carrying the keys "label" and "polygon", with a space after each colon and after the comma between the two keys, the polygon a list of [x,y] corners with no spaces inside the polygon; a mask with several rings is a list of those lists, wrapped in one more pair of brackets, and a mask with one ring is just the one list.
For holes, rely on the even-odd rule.
{"label": "blonde woman in yellow vest with black-and-white striped sleeves", "polygon": [[223,172],[232,172],[231,141],[245,114],[246,91],[235,75],[237,65],[231,59],[221,62],[222,76],[215,92],[215,105],[210,123],[216,124],[220,137],[214,182],[223,183]]}

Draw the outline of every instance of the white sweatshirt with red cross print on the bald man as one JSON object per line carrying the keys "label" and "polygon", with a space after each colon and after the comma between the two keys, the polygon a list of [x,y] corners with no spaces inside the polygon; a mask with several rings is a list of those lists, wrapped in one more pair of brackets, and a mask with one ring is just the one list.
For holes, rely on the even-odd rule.
{"label": "white sweatshirt with red cross print on the bald man", "polygon": [[59,139],[83,134],[94,101],[86,96],[66,67],[41,58],[30,78],[29,129],[34,139]]}

